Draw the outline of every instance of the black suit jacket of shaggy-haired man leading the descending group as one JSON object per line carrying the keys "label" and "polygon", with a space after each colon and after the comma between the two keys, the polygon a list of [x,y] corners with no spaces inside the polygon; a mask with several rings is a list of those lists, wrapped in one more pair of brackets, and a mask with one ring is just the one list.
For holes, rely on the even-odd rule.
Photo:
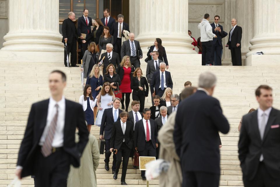
{"label": "black suit jacket of shaggy-haired man leading the descending group", "polygon": [[125,145],[127,145],[129,149],[132,149],[133,127],[134,125],[130,121],[127,121],[125,127],[125,134],[123,134],[122,121],[120,120],[113,123],[110,147],[119,150],[120,146],[122,145],[123,138],[125,138]]}

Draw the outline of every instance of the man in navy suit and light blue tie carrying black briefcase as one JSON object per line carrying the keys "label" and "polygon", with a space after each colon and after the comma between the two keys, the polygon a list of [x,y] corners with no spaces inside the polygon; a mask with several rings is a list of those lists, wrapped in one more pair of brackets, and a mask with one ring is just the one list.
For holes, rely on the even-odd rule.
{"label": "man in navy suit and light blue tie carrying black briefcase", "polygon": [[[100,140],[105,140],[105,169],[109,171],[109,161],[111,153],[110,151],[110,139],[111,139],[111,131],[113,129],[113,123],[120,120],[120,113],[123,111],[119,109],[120,107],[120,99],[115,98],[113,101],[113,108],[107,108],[104,110],[102,119],[101,119],[101,126],[100,126]],[[112,174],[115,173],[116,169],[116,155],[113,154],[113,166],[112,166]]]}

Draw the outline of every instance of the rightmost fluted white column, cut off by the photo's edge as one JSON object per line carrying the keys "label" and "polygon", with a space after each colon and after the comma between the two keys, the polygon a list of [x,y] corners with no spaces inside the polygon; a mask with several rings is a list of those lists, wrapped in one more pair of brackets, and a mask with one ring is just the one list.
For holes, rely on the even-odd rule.
{"label": "rightmost fluted white column, cut off by the photo's edge", "polygon": [[265,55],[280,54],[280,22],[279,0],[255,0],[254,2],[254,37],[250,40],[250,52],[246,57],[255,52],[262,51]]}

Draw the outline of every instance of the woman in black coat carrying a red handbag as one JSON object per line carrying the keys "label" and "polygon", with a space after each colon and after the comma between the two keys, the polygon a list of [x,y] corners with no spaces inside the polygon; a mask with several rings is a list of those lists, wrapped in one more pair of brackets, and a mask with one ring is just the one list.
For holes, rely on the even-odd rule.
{"label": "woman in black coat carrying a red handbag", "polygon": [[106,73],[104,75],[104,82],[110,82],[113,91],[117,89],[117,85],[120,86],[122,84],[113,64],[109,64],[107,66]]}

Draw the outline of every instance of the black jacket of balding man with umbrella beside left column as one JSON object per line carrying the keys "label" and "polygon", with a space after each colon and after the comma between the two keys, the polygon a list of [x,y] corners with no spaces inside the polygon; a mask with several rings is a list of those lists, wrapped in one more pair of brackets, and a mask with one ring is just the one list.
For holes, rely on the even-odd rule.
{"label": "black jacket of balding man with umbrella beside left column", "polygon": [[76,38],[76,40],[78,41],[78,31],[77,28],[75,26],[75,23],[70,20],[69,18],[63,20],[62,22],[62,42],[64,42],[64,38],[67,38],[67,43],[71,44],[73,38]]}

